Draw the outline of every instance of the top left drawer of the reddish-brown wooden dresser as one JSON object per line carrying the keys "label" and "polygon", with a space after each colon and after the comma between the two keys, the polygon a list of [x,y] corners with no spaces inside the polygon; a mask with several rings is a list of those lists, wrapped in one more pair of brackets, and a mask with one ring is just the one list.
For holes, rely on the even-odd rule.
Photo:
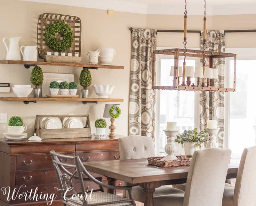
{"label": "top left drawer of the reddish-brown wooden dresser", "polygon": [[[66,155],[74,156],[75,153],[68,153]],[[62,162],[74,164],[71,159],[60,159]],[[16,157],[16,170],[28,171],[35,169],[53,169],[52,157],[50,154],[44,155],[24,155]]]}

